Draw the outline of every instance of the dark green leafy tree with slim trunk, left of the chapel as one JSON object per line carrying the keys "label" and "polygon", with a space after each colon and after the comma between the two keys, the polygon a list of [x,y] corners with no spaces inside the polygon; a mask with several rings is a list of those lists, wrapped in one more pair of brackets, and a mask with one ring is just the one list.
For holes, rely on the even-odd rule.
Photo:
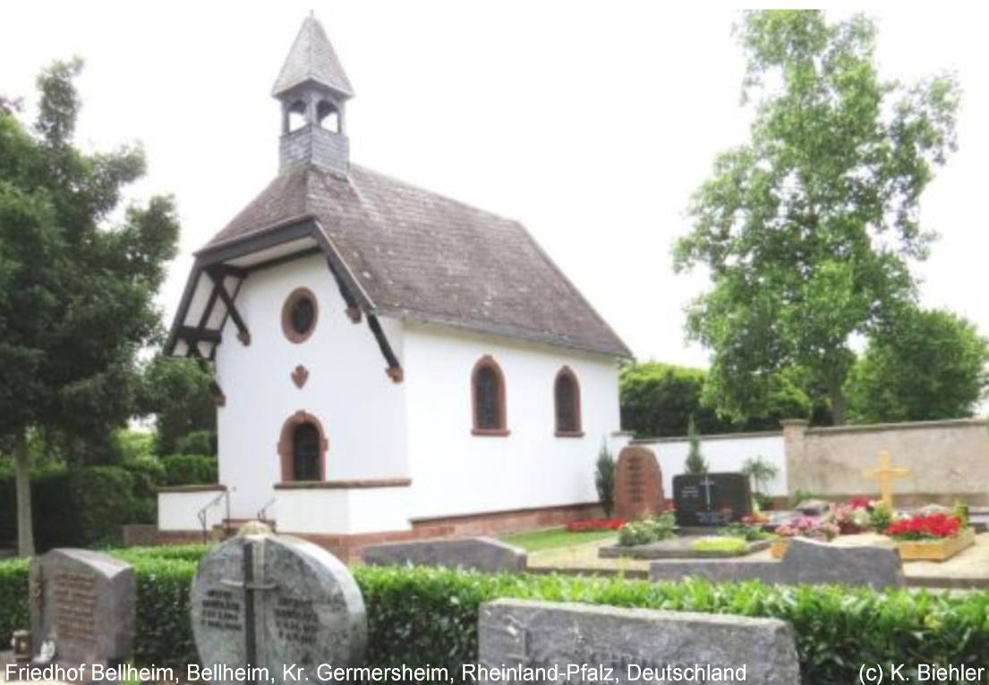
{"label": "dark green leafy tree with slim trunk, left of the chapel", "polygon": [[[159,332],[152,298],[175,254],[170,198],[131,205],[110,225],[144,156],[73,145],[80,69],[55,62],[39,77],[33,132],[0,111],[0,440],[15,455],[27,454],[31,427],[84,439],[128,418],[135,355]],[[25,484],[28,466],[19,458]],[[30,526],[20,533],[30,539]]]}

